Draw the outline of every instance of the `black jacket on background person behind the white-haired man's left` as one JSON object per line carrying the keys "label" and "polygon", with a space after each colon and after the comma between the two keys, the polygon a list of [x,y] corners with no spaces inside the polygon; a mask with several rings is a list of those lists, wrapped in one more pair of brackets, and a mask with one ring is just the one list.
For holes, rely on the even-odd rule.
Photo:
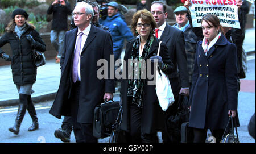
{"label": "black jacket on background person behind the white-haired man's left", "polygon": [[52,14],[52,30],[66,31],[68,30],[68,15],[71,15],[72,10],[69,2],[65,1],[66,5],[50,5],[47,14]]}

